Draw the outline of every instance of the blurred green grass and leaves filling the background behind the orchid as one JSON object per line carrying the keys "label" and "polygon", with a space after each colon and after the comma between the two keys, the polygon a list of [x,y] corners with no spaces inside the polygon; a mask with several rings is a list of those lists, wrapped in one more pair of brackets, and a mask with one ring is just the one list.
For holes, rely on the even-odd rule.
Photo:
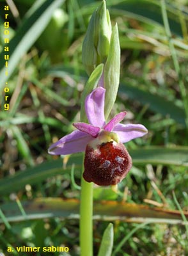
{"label": "blurred green grass and leaves filling the background behind the orchid", "polygon": [[[8,76],[2,3],[6,2],[0,7],[0,254],[6,255],[8,246],[62,245],[70,248],[67,255],[79,255],[78,212],[56,212],[61,205],[56,198],[79,199],[82,156],[50,156],[47,148],[79,121],[88,79],[81,62],[82,40],[100,1],[10,1]],[[149,133],[126,144],[134,167],[118,191],[95,188],[95,201],[107,200],[104,208],[113,200],[176,209],[179,220],[185,221],[188,2],[107,0],[107,7],[113,24],[118,23],[121,44],[121,82],[112,116],[126,110],[125,122],[144,124]],[[7,81],[10,109],[5,111]],[[34,213],[29,213],[28,204],[48,198],[55,201],[47,209],[31,205]],[[109,216],[111,212],[109,208]],[[108,220],[114,223],[113,255],[187,255],[187,226],[181,221],[146,215],[138,224],[139,211],[134,214],[138,216],[128,214],[124,220],[121,214],[99,214],[93,230],[95,255]],[[16,251],[13,255],[22,256]]]}

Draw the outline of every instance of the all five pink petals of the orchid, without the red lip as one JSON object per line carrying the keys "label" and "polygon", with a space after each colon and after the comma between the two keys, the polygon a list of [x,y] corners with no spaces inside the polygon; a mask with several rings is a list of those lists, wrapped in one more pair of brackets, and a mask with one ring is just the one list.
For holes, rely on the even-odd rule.
{"label": "all five pink petals of the orchid, without the red lip", "polygon": [[97,138],[102,130],[118,134],[120,143],[139,138],[148,132],[146,127],[141,124],[119,124],[126,112],[118,113],[106,124],[104,118],[105,93],[106,89],[97,87],[86,97],[85,110],[90,124],[74,123],[77,130],[52,144],[49,148],[49,154],[66,155],[84,152],[86,145],[93,138]]}

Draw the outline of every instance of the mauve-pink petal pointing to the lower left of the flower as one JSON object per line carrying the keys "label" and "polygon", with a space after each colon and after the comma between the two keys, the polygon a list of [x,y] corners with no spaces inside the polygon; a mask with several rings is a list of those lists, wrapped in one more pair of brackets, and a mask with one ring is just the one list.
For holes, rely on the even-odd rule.
{"label": "mauve-pink petal pointing to the lower left of the flower", "polygon": [[85,132],[74,131],[52,144],[49,147],[49,154],[68,155],[83,152],[91,139],[92,137]]}

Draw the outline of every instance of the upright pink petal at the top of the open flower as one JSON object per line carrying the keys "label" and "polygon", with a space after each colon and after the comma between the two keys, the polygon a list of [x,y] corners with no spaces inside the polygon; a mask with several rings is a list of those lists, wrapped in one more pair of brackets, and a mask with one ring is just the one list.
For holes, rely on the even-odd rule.
{"label": "upright pink petal at the top of the open flower", "polygon": [[104,97],[106,90],[97,87],[85,100],[85,109],[88,121],[91,125],[102,127],[105,124],[104,118]]}

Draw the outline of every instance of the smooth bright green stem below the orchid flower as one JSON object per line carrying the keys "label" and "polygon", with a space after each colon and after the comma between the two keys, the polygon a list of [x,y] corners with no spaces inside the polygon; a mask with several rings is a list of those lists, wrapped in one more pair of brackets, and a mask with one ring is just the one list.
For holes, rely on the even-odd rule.
{"label": "smooth bright green stem below the orchid flower", "polygon": [[93,183],[81,180],[80,206],[81,256],[93,256]]}

